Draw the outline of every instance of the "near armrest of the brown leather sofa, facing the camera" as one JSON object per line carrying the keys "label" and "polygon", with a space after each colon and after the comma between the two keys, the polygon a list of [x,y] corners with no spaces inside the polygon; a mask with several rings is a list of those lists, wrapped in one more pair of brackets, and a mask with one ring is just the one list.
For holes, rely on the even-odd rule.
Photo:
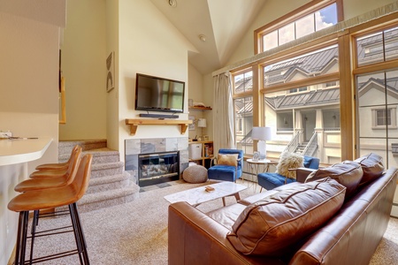
{"label": "near armrest of the brown leather sofa, facing the camera", "polygon": [[226,239],[229,230],[225,226],[185,201],[172,203],[168,218],[169,264],[283,264],[240,254]]}

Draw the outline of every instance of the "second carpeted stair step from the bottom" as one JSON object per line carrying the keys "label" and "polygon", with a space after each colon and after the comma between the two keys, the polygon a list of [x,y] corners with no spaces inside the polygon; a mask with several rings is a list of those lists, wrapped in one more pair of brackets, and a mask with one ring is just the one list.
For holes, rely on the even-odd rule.
{"label": "second carpeted stair step from the bottom", "polygon": [[104,191],[120,189],[129,185],[130,174],[126,171],[123,174],[90,178],[88,183],[88,193],[101,193]]}

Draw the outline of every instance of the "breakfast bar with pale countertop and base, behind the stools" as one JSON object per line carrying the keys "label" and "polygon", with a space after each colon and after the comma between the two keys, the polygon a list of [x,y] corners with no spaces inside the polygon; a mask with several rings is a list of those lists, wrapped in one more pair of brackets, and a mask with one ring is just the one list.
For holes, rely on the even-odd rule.
{"label": "breakfast bar with pale countertop and base, behind the stools", "polygon": [[7,264],[17,236],[18,214],[7,204],[17,193],[14,186],[27,179],[27,163],[40,159],[52,139],[0,140],[0,264]]}

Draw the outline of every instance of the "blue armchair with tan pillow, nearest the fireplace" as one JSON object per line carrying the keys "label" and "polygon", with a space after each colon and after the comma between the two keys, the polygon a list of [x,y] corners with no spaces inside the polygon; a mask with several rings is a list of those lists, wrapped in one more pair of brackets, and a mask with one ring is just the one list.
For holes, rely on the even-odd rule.
{"label": "blue armchair with tan pillow, nearest the fireplace", "polygon": [[[225,163],[224,155],[238,155],[233,159],[233,163]],[[235,182],[241,178],[242,174],[243,151],[239,149],[219,149],[217,164],[210,167],[207,176],[210,179],[225,180]],[[231,160],[230,160],[231,161]],[[212,164],[212,163],[211,163]]]}

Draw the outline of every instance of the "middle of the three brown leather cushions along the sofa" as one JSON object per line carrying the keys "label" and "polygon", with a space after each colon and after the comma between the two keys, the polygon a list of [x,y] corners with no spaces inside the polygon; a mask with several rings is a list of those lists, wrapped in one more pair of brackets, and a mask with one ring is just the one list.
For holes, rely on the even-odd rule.
{"label": "middle of the three brown leather cushions along the sofa", "polygon": [[305,182],[326,177],[333,178],[342,186],[347,187],[346,196],[349,198],[356,192],[356,187],[359,185],[363,175],[364,171],[359,163],[347,160],[310,173]]}

